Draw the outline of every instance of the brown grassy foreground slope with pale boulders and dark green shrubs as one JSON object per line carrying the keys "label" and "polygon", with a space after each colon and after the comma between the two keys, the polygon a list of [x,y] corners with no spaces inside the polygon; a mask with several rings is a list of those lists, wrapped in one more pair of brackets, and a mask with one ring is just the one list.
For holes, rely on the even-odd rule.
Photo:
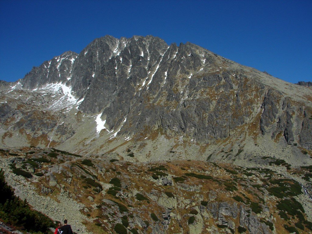
{"label": "brown grassy foreground slope with pale boulders and dark green shrubs", "polygon": [[[126,151],[131,158],[132,151]],[[293,228],[309,233],[312,228],[310,165],[293,167],[273,158],[256,168],[193,160],[135,163],[51,148],[0,154],[16,195],[54,220],[67,218],[76,233],[260,234]]]}

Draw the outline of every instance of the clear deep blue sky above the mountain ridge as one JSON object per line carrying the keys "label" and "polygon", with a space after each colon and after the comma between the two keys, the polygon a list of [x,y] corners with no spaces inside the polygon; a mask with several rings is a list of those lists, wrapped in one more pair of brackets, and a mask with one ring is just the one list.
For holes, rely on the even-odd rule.
{"label": "clear deep blue sky above the mountain ridge", "polygon": [[192,42],[288,82],[312,81],[312,1],[0,0],[0,80],[97,37]]}

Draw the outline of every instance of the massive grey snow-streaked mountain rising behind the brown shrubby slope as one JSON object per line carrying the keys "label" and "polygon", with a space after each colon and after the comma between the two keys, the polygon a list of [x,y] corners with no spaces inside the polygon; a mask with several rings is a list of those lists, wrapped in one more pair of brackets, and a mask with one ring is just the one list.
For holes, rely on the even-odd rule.
{"label": "massive grey snow-streaked mountain rising behind the brown shrubby slope", "polygon": [[[266,153],[290,145],[295,147],[287,150],[297,159],[304,157],[302,150],[312,149],[309,87],[189,42],[168,46],[152,36],[105,36],[79,55],[65,52],[22,80],[2,83],[5,147],[58,145],[103,154],[131,142],[141,145],[138,160],[154,153],[157,147],[149,143],[162,144],[162,137],[168,140],[165,154],[190,146],[187,152],[199,159],[225,147],[229,152],[245,148],[242,154],[250,155],[254,145],[270,144]],[[234,160],[235,155],[228,157]]]}

